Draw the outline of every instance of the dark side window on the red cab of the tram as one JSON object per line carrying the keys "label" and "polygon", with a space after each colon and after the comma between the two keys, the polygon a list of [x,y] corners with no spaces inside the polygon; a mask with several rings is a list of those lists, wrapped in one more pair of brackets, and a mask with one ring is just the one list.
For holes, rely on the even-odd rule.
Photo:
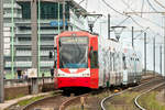
{"label": "dark side window on the red cab of the tram", "polygon": [[98,68],[98,52],[94,52],[90,61],[91,68]]}

